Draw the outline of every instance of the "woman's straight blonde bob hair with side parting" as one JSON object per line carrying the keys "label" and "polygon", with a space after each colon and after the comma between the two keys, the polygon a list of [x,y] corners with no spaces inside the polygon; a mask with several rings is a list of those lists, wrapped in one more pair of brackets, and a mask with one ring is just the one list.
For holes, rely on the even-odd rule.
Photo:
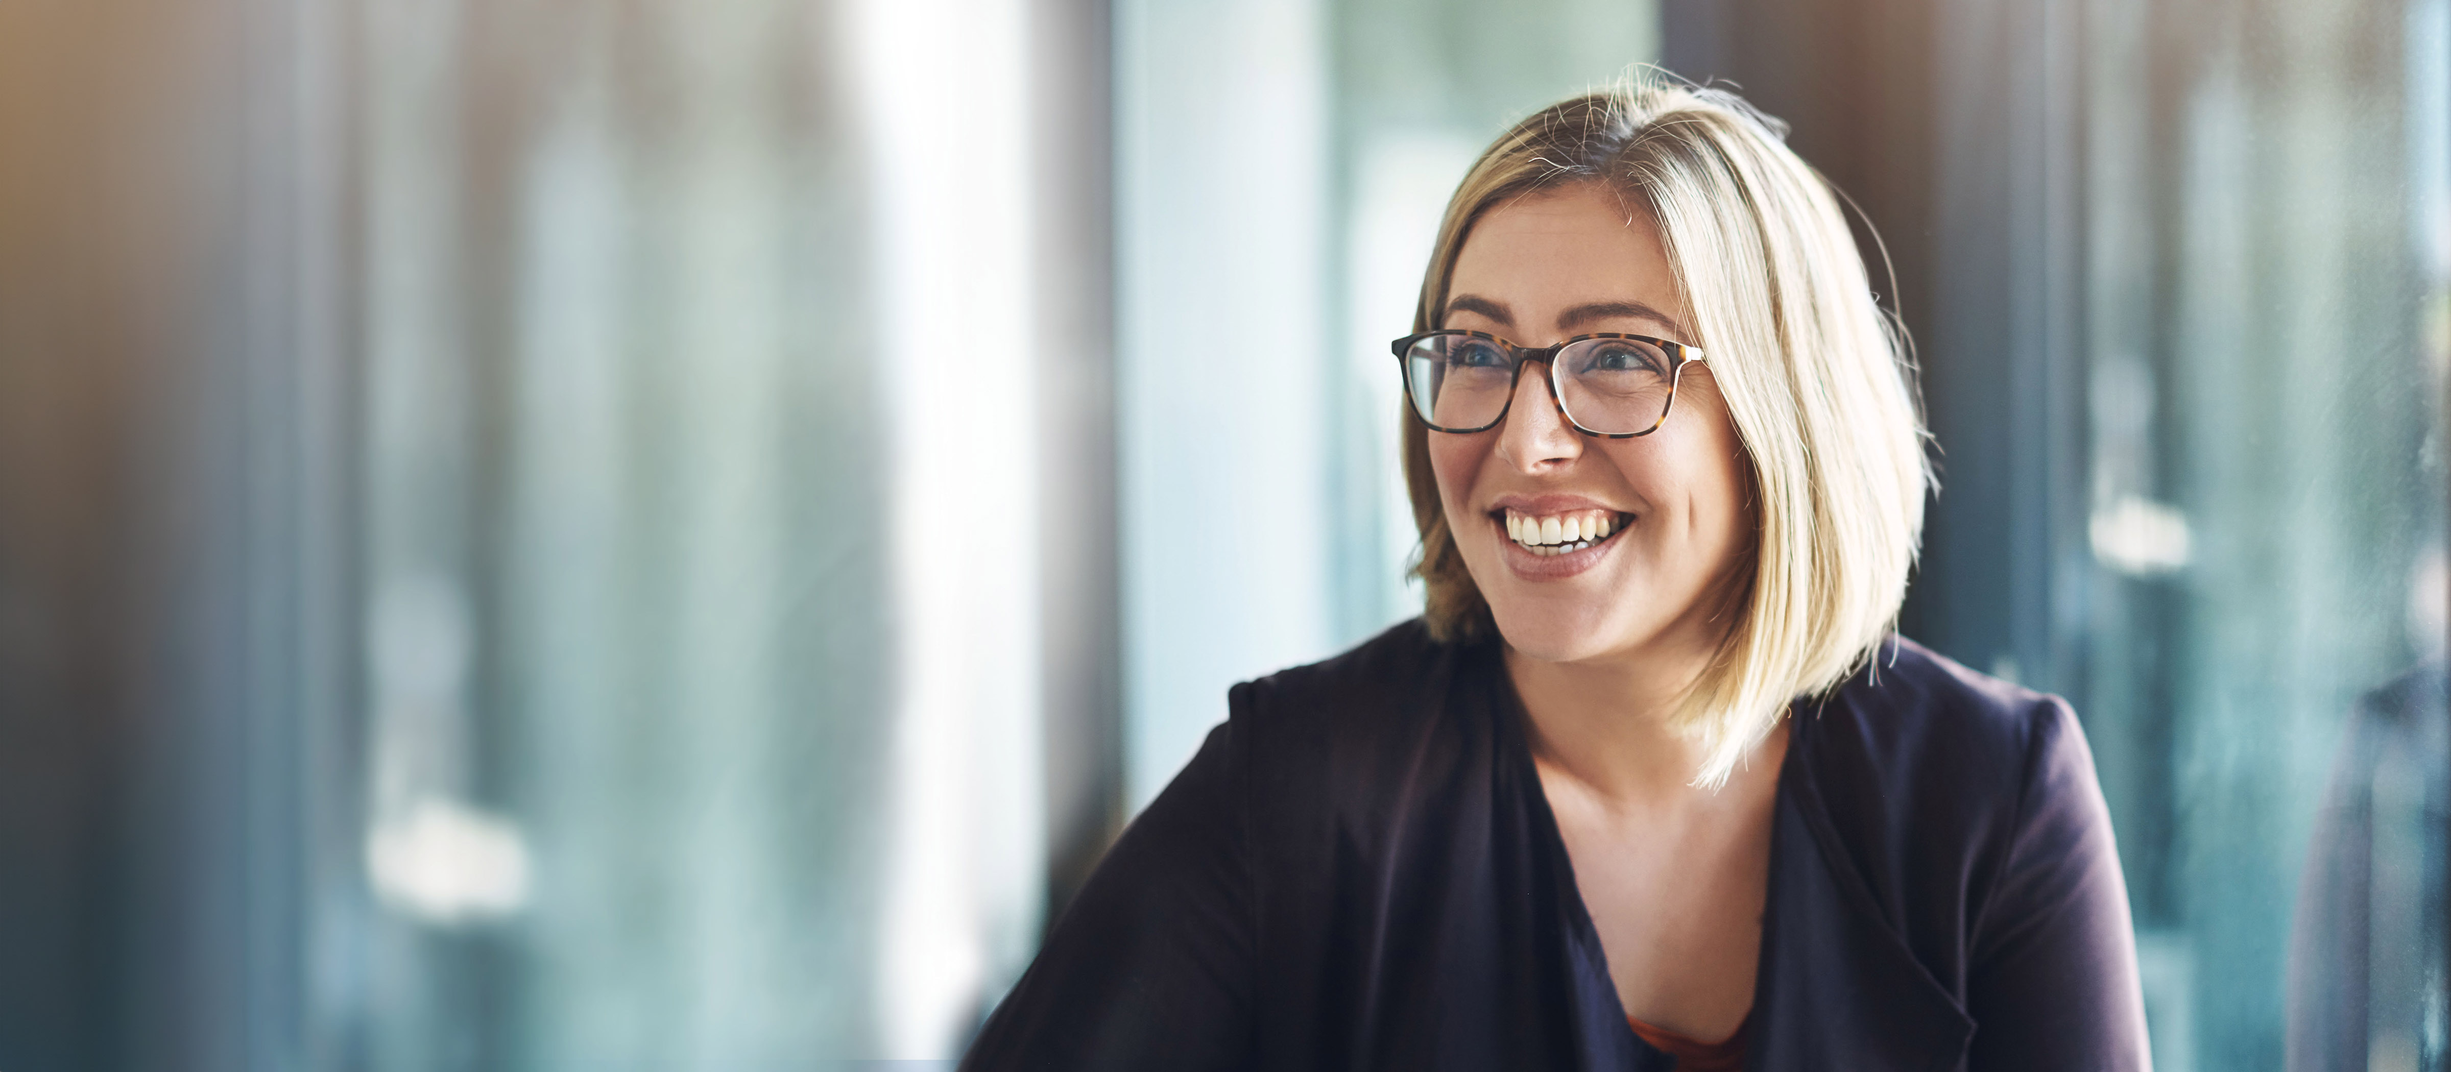
{"label": "woman's straight blonde bob hair with side parting", "polygon": [[[1456,255],[1483,213],[1578,184],[1659,225],[1699,335],[1684,343],[1708,355],[1750,463],[1750,585],[1674,712],[1703,742],[1696,783],[1718,786],[1792,700],[1836,688],[1897,622],[1931,487],[1912,367],[1838,196],[1787,149],[1784,125],[1657,71],[1551,105],[1480,154],[1446,206],[1414,330],[1444,326]],[[1431,636],[1493,634],[1409,406],[1404,482]]]}

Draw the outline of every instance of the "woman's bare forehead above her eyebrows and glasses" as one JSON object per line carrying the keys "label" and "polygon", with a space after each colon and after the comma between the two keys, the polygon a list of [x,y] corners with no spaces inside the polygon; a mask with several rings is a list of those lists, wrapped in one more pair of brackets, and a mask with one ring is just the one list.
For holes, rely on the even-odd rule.
{"label": "woman's bare forehead above her eyebrows and glasses", "polygon": [[[1689,323],[1650,213],[1593,184],[1493,206],[1456,252],[1446,294],[1495,301],[1512,313],[1502,328],[1534,335],[1556,328],[1559,313],[1593,303],[1640,303],[1674,318],[1654,328]],[[1466,316],[1488,318],[1453,313],[1451,321]]]}

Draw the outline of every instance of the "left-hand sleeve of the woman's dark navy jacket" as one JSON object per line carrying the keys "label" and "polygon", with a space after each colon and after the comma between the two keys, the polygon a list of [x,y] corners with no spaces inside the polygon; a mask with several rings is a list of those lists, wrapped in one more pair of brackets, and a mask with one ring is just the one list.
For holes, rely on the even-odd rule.
{"label": "left-hand sleeve of the woman's dark navy jacket", "polygon": [[966,1072],[1235,1070],[1250,1062],[1252,898],[1233,722],[1123,832]]}

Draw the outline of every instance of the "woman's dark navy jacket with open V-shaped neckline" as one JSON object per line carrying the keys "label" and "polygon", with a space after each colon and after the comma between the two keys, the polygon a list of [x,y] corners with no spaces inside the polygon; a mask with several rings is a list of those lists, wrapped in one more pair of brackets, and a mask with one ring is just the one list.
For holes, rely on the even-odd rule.
{"label": "woman's dark navy jacket with open V-shaped neckline", "polygon": [[[1792,707],[1748,1070],[2145,1070],[2069,705],[1914,641]],[[1235,685],[966,1070],[1659,1070],[1495,644],[1419,622]]]}

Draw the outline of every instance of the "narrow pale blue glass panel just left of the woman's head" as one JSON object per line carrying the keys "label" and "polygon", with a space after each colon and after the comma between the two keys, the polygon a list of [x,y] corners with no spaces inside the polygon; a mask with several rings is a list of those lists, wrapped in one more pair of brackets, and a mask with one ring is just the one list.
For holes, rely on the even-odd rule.
{"label": "narrow pale blue glass panel just left of the woman's head", "polygon": [[[1184,56],[1201,56],[1196,71]],[[1324,27],[1311,0],[1115,5],[1125,773],[1137,810],[1226,690],[1336,649],[1328,541]],[[1282,377],[1184,338],[1265,328]],[[1385,340],[1377,352],[1387,352]],[[1380,357],[1380,365],[1387,365]],[[1387,370],[1380,367],[1387,392]]]}

